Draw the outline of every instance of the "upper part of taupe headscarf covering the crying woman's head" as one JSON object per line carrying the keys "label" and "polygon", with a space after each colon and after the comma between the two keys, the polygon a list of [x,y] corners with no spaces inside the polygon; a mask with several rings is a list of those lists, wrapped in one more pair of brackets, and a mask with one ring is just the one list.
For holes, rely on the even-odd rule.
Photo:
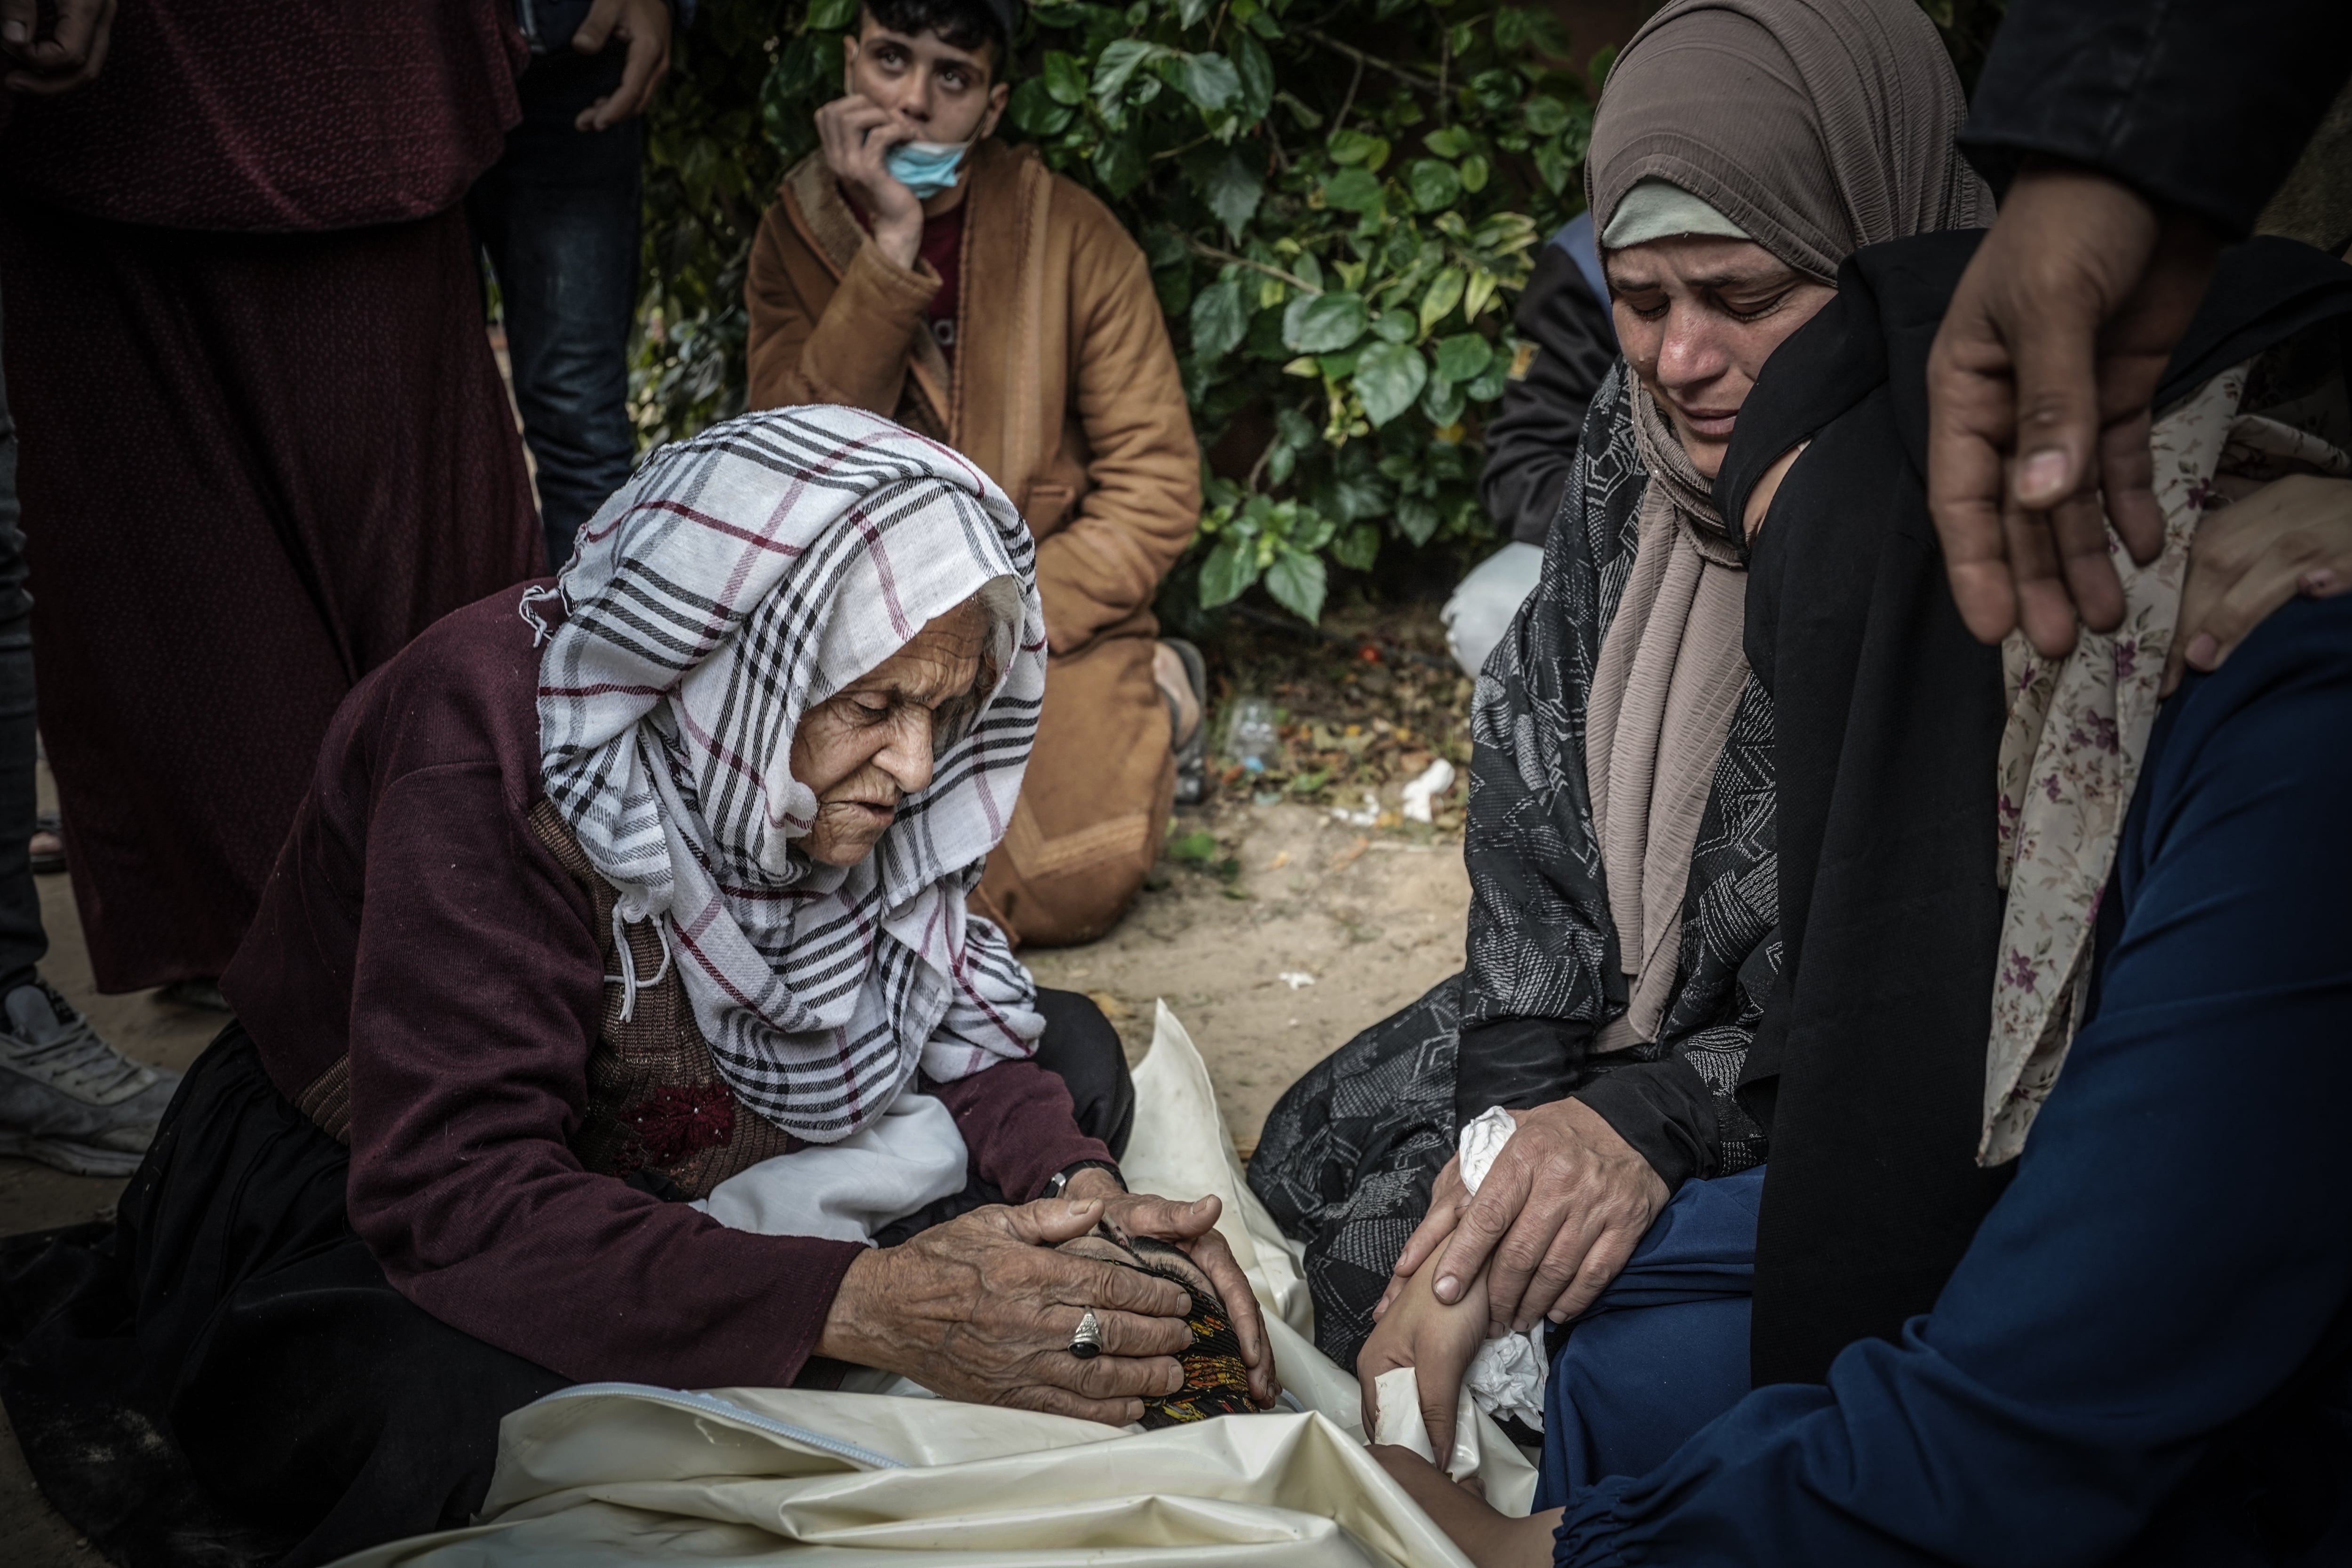
{"label": "upper part of taupe headscarf covering the crying woman's head", "polygon": [[1865,244],[1992,221],[1952,141],[1964,115],[1915,0],[1670,0],[1609,71],[1585,158],[1592,223],[1663,179],[1835,282]]}

